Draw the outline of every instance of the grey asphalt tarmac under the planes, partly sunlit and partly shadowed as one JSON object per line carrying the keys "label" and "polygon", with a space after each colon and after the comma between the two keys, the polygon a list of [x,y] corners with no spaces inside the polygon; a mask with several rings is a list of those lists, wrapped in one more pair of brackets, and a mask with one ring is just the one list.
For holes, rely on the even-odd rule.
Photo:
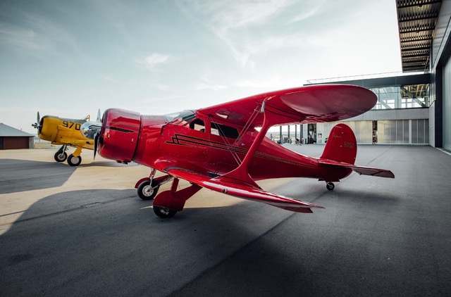
{"label": "grey asphalt tarmac under the planes, partly sunlit and partly shadowed", "polygon": [[166,220],[134,189],[149,168],[55,152],[0,151],[0,296],[450,296],[451,156],[431,146],[359,146],[395,179],[259,182],[312,214],[202,189]]}

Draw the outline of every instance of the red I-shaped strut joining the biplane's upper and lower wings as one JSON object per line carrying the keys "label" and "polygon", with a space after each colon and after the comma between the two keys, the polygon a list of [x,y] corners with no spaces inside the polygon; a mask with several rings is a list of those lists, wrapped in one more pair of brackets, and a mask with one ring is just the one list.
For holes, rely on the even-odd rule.
{"label": "red I-shaped strut joining the biplane's upper and lower wings", "polygon": [[233,179],[234,183],[249,184],[251,187],[261,189],[259,185],[254,182],[254,179],[252,179],[252,177],[249,175],[249,165],[252,158],[254,157],[255,152],[257,151],[257,148],[259,148],[261,141],[263,141],[264,137],[266,137],[266,132],[268,132],[268,129],[273,125],[271,118],[274,118],[267,115],[267,113],[265,112],[265,105],[266,100],[262,103],[259,110],[259,113],[264,113],[263,126],[261,127],[259,134],[257,134],[257,137],[252,143],[252,146],[249,148],[249,151],[247,151],[245,158],[242,160],[242,163],[237,168],[235,168],[235,170],[232,170],[225,175],[222,175],[221,177],[216,177],[216,180],[223,180],[226,182],[227,179]]}

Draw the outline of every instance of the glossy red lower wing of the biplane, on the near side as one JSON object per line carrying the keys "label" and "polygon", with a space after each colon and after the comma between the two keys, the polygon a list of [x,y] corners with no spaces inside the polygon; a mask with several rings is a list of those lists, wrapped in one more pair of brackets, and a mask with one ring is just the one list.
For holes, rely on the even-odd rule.
{"label": "glossy red lower wing of the biplane, on the near side", "polygon": [[188,182],[198,184],[206,189],[218,191],[223,194],[243,198],[251,201],[266,203],[270,206],[276,206],[285,210],[291,210],[297,213],[312,213],[310,208],[323,208],[313,203],[308,203],[282,195],[269,193],[257,187],[251,187],[244,184],[236,184],[230,180],[221,179],[221,177],[209,178],[194,172],[188,172],[181,169],[168,170],[170,175],[185,179]]}

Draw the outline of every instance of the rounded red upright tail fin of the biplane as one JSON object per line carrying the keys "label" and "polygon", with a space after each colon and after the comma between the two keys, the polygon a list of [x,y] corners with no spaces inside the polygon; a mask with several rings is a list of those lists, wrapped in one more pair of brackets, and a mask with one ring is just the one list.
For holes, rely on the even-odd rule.
{"label": "rounded red upright tail fin of the biplane", "polygon": [[357,140],[352,129],[345,124],[333,127],[321,158],[354,164],[356,156]]}

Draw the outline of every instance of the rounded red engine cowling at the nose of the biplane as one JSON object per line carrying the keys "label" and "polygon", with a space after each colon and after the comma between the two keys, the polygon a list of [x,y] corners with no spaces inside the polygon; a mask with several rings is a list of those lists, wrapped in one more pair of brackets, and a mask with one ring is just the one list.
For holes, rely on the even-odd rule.
{"label": "rounded red engine cowling at the nose of the biplane", "polygon": [[97,151],[104,158],[129,163],[135,154],[140,126],[140,113],[118,108],[105,110]]}

